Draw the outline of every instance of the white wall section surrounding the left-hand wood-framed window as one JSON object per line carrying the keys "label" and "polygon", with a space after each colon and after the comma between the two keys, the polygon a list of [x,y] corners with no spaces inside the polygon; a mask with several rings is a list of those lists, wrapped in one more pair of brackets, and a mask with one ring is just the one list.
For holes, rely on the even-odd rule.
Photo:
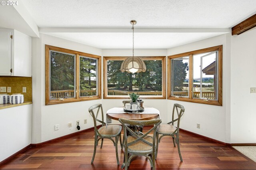
{"label": "white wall section surrounding the left-hand wood-framed window", "polygon": [[[32,40],[32,143],[40,143],[66,134],[77,132],[76,121],[80,121],[81,130],[93,127],[92,118],[88,113],[91,105],[101,103],[101,99],[45,105],[45,44],[72,49],[95,55],[102,55],[102,50],[96,47],[71,42],[68,40],[40,34],[40,38]],[[83,124],[88,119],[87,124]],[[68,123],[72,127],[68,127]],[[54,125],[60,125],[60,130],[54,130]]]}

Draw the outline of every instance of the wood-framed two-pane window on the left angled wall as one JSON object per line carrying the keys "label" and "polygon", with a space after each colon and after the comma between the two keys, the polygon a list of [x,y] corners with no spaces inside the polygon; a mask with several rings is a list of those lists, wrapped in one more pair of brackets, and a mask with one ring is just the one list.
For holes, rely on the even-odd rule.
{"label": "wood-framed two-pane window on the left angled wall", "polygon": [[45,46],[46,105],[100,99],[100,59],[50,45]]}

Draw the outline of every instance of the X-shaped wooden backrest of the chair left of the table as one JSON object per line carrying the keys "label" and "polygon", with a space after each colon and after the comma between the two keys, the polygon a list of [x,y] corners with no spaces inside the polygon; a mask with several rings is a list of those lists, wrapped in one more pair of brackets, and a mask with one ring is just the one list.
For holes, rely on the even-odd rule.
{"label": "X-shaped wooden backrest of the chair left of the table", "polygon": [[[95,111],[97,110],[96,115],[94,113],[94,110]],[[100,113],[101,114],[101,120],[98,119],[99,112],[101,112]],[[104,115],[103,115],[102,105],[101,104],[96,104],[96,105],[93,105],[93,106],[89,107],[89,113],[93,118],[94,130],[95,130],[95,132],[98,132],[97,122],[102,123],[102,126],[106,125],[106,123],[104,122]]]}

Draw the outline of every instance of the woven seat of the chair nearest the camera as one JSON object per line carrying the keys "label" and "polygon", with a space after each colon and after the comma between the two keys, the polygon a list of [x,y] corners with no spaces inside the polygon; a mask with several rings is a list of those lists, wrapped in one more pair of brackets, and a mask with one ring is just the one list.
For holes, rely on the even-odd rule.
{"label": "woven seat of the chair nearest the camera", "polygon": [[[146,136],[144,139],[150,143],[153,143],[152,136]],[[127,136],[127,143],[132,142],[134,140],[136,140],[136,138],[134,136]],[[146,151],[146,150],[152,150],[152,146],[146,144],[145,142],[138,141],[138,142],[128,146],[128,149],[129,150],[144,150],[144,151]]]}

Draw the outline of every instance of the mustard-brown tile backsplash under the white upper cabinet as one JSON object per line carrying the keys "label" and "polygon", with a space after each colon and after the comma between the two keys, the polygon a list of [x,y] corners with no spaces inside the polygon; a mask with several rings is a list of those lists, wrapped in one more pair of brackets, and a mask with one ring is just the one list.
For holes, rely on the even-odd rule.
{"label": "mustard-brown tile backsplash under the white upper cabinet", "polygon": [[[24,95],[24,101],[32,101],[32,77],[14,77],[14,76],[0,76],[0,87],[11,87],[11,93],[21,93]],[[26,93],[22,93],[22,87],[26,87]]]}

